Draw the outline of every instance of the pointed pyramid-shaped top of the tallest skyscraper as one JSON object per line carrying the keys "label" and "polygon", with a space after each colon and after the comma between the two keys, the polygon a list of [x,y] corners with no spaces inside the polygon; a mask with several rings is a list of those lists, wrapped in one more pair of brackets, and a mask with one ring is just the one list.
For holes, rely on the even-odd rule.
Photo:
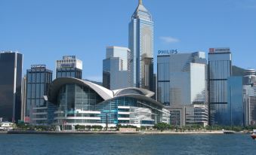
{"label": "pointed pyramid-shaped top of the tallest skyscraper", "polygon": [[145,8],[142,4],[142,0],[139,0],[139,5],[137,6],[134,14],[131,17],[132,19],[143,19],[143,20],[150,20],[152,21],[152,16],[147,8]]}

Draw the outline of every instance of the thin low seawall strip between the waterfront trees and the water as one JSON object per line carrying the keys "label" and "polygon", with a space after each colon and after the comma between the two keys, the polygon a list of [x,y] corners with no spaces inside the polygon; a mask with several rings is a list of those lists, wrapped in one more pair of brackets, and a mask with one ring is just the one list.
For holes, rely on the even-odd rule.
{"label": "thin low seawall strip between the waterfront trees and the water", "polygon": [[[1,132],[0,132],[1,133]],[[147,132],[119,132],[119,131],[100,131],[100,132],[72,132],[72,131],[62,131],[62,132],[39,132],[39,131],[8,131],[2,132],[6,134],[61,134],[61,135],[68,135],[68,134],[82,134],[82,135],[92,135],[92,134],[99,134],[99,135],[106,135],[106,134],[126,134],[126,135],[203,135],[203,134],[211,134],[211,135],[220,135],[224,134],[223,131],[193,131],[193,132],[174,132],[174,131],[147,131]],[[243,133],[243,132],[236,132],[236,133]]]}

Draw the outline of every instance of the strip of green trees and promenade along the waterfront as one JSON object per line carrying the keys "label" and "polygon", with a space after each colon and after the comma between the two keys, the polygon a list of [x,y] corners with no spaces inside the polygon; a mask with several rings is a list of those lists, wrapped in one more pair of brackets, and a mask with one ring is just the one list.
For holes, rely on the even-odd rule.
{"label": "strip of green trees and promenade along the waterfront", "polygon": [[[122,129],[122,131],[120,130]],[[223,133],[224,131],[234,131],[239,133],[248,133],[251,132],[253,129],[256,129],[256,126],[200,126],[200,125],[191,125],[191,126],[171,126],[167,123],[158,123],[155,126],[141,126],[140,128],[136,126],[121,126],[118,125],[116,127],[109,127],[103,128],[103,126],[81,126],[76,125],[75,130],[65,130],[65,126],[60,126],[60,132],[111,132],[111,133],[122,133],[125,132],[124,129],[127,129],[126,132],[138,132],[138,133],[145,133],[145,134],[190,134],[190,133]],[[26,123],[20,123],[14,125],[14,129],[9,131],[9,133],[14,132],[53,132],[56,133],[56,126],[32,126]],[[0,131],[1,132],[1,131]],[[6,131],[2,131],[5,133]]]}

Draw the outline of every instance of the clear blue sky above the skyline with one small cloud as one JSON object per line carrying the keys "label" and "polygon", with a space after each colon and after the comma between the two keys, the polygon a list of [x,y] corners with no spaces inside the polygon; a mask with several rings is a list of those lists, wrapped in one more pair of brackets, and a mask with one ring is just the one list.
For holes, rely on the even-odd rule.
{"label": "clear blue sky above the skyline with one small cloud", "polygon": [[[83,78],[101,81],[106,46],[128,47],[128,23],[137,0],[1,0],[0,50],[54,70],[76,55]],[[155,22],[157,50],[205,51],[230,47],[233,65],[256,68],[255,0],[143,0]],[[156,71],[156,69],[155,69]]]}

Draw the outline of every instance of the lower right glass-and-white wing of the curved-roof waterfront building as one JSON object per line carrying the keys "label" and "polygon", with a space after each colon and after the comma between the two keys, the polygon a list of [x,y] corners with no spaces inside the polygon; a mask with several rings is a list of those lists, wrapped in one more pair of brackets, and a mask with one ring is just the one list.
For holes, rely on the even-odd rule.
{"label": "lower right glass-and-white wing of the curved-roof waterfront building", "polygon": [[[112,108],[107,108],[112,105]],[[111,101],[102,102],[97,105],[98,111],[103,111],[101,121],[106,120],[106,113],[110,116],[112,122],[122,126],[154,126],[155,123],[168,123],[168,114],[165,117],[161,105],[146,102],[143,99],[137,99],[131,96],[116,97]],[[110,110],[109,110],[110,109]],[[104,121],[102,122],[104,123]]]}

